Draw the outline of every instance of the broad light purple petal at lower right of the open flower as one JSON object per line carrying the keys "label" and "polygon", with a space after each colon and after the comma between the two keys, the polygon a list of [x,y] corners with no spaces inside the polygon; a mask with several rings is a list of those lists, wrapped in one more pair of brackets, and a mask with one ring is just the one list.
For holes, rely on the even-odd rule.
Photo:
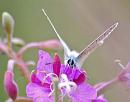
{"label": "broad light purple petal at lower right of the open flower", "polygon": [[96,98],[97,92],[91,85],[82,83],[70,96],[72,102],[91,102],[91,99]]}

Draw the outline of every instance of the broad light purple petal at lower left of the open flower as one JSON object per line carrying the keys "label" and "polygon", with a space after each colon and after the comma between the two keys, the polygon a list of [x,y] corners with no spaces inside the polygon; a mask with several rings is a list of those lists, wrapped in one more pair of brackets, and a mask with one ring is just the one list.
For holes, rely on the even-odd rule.
{"label": "broad light purple petal at lower left of the open flower", "polygon": [[34,102],[54,102],[52,96],[48,96],[47,92],[43,87],[37,84],[29,83],[26,87],[27,96],[32,98]]}

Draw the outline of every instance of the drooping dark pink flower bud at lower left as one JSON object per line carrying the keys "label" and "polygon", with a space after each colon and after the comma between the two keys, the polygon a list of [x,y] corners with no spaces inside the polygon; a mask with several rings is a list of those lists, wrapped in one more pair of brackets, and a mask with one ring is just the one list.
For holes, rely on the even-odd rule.
{"label": "drooping dark pink flower bud at lower left", "polygon": [[15,100],[18,94],[18,87],[14,81],[14,75],[11,71],[6,71],[4,76],[4,87],[8,96]]}

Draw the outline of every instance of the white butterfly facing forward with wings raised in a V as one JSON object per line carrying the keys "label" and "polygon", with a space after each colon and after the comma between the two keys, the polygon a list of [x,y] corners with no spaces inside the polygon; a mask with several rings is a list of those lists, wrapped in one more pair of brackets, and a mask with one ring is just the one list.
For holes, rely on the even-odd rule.
{"label": "white butterfly facing forward with wings raised in a V", "polygon": [[90,43],[87,47],[85,47],[81,52],[77,52],[75,50],[70,50],[68,45],[64,42],[64,40],[60,37],[59,33],[57,32],[55,26],[53,25],[52,21],[50,20],[49,16],[46,14],[45,10],[42,9],[44,15],[46,16],[47,20],[51,24],[54,32],[56,33],[58,39],[60,40],[63,49],[64,49],[64,63],[69,65],[70,67],[82,67],[86,58],[99,46],[104,43],[104,40],[115,30],[118,26],[118,22],[110,26],[105,32],[103,32],[98,38],[96,38],[92,43]]}

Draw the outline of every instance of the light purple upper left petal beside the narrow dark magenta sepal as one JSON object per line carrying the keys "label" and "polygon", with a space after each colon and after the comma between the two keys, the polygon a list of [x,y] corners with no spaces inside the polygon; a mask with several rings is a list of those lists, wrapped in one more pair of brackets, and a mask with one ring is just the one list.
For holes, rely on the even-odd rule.
{"label": "light purple upper left petal beside the narrow dark magenta sepal", "polygon": [[37,70],[39,71],[46,71],[46,72],[52,72],[52,58],[49,55],[49,53],[39,50],[38,53],[39,59],[37,63]]}

